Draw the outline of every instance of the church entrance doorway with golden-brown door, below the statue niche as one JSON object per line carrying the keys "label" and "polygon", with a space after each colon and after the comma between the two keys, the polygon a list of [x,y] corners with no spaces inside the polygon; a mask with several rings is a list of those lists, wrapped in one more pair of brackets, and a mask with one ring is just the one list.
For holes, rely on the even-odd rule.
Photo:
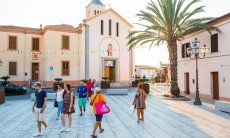
{"label": "church entrance doorway with golden-brown door, below the statue niche", "polygon": [[115,82],[115,60],[105,61],[105,77],[107,77],[110,82]]}

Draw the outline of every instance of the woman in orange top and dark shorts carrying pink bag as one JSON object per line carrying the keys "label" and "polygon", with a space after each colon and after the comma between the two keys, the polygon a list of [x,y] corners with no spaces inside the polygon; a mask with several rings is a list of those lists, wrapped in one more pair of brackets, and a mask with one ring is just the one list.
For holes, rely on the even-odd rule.
{"label": "woman in orange top and dark shorts carrying pink bag", "polygon": [[94,124],[93,133],[91,135],[91,137],[93,138],[97,137],[96,130],[98,127],[100,129],[100,133],[104,131],[104,129],[102,129],[101,127],[101,121],[102,121],[103,115],[96,114],[95,104],[99,102],[106,102],[106,101],[105,101],[104,95],[101,92],[101,89],[99,87],[96,87],[94,90],[94,94],[90,98],[90,105],[93,106],[93,113],[95,114],[95,117],[96,117],[96,123]]}

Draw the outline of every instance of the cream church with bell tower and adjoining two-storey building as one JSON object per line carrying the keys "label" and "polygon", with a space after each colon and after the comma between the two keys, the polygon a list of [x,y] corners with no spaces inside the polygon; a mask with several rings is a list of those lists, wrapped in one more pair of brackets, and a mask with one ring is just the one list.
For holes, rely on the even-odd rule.
{"label": "cream church with bell tower and adjoining two-storey building", "polygon": [[128,50],[132,25],[100,0],[85,8],[78,27],[47,25],[40,28],[0,25],[0,76],[30,85],[52,86],[55,78],[76,86],[80,80],[107,77],[129,86],[134,73],[134,51]]}

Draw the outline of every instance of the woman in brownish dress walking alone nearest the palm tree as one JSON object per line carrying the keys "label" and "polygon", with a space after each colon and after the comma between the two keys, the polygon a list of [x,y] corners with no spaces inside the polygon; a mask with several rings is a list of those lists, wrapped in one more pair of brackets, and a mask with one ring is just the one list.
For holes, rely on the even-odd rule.
{"label": "woman in brownish dress walking alone nearest the palm tree", "polygon": [[133,100],[134,108],[137,109],[137,123],[139,123],[140,120],[144,121],[144,109],[146,108],[145,100],[146,94],[143,90],[143,85],[138,84],[138,90]]}

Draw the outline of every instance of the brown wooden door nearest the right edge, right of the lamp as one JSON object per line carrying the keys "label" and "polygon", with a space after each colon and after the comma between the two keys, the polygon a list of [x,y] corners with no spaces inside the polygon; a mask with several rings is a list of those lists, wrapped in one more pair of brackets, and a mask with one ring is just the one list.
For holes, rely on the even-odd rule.
{"label": "brown wooden door nearest the right edge, right of the lamp", "polygon": [[218,75],[218,72],[212,72],[212,93],[213,93],[213,99],[219,100],[219,75]]}

